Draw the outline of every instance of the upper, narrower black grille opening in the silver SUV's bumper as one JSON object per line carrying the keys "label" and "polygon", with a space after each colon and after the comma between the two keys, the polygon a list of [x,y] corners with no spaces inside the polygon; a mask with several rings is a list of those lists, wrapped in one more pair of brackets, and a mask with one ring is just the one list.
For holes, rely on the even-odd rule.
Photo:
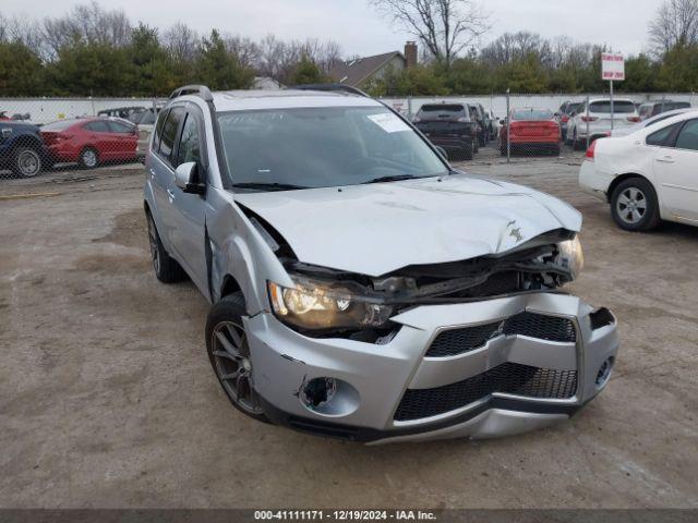
{"label": "upper, narrower black grille opening in the silver SUV's bumper", "polygon": [[567,318],[524,312],[504,321],[446,330],[426,351],[426,357],[446,357],[473,351],[497,336],[528,336],[547,341],[573,343],[577,340],[575,324]]}

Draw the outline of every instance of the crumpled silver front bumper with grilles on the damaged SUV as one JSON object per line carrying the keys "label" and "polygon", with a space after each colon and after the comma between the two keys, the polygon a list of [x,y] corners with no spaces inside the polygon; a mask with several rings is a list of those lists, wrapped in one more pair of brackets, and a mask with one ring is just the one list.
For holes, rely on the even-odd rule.
{"label": "crumpled silver front bumper with grilles on the damaged SUV", "polygon": [[[268,313],[246,318],[267,416],[377,443],[508,436],[571,416],[603,389],[618,349],[607,309],[558,293],[419,306],[392,320],[398,332],[375,344],[309,338]],[[309,404],[324,378],[327,401]]]}

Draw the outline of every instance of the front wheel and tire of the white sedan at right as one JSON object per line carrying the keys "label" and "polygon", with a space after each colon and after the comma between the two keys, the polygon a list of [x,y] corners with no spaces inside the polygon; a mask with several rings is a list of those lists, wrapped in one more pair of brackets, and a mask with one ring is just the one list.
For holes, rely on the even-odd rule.
{"label": "front wheel and tire of the white sedan at right", "polygon": [[652,184],[643,178],[623,180],[611,194],[611,216],[626,231],[650,231],[657,228],[661,218]]}

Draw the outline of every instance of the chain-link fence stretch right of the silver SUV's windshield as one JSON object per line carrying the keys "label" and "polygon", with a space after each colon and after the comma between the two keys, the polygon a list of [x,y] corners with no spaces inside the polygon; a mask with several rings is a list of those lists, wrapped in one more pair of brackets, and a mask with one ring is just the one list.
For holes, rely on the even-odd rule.
{"label": "chain-link fence stretch right of the silver SUV's windshield", "polygon": [[[579,159],[598,138],[623,136],[649,118],[689,108],[693,94],[514,95],[394,98],[453,161]],[[698,100],[696,100],[698,101]]]}

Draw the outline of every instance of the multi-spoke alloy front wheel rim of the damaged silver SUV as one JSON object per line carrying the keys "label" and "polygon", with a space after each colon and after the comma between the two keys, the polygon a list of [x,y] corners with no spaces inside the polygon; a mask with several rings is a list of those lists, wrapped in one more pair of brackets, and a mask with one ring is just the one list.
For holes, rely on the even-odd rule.
{"label": "multi-spoke alloy front wheel rim of the damaged silver SUV", "polygon": [[234,321],[220,321],[212,333],[216,375],[232,401],[243,411],[263,413],[252,382],[252,360],[244,329]]}

